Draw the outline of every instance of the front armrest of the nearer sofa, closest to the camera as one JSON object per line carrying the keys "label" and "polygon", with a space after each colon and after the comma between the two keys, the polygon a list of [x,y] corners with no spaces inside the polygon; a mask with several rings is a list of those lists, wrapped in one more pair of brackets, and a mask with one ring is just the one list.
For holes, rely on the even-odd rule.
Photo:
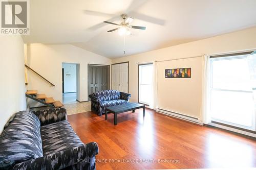
{"label": "front armrest of the nearer sofa, closest to the camera", "polygon": [[[95,155],[98,154],[98,144],[91,142],[85,145],[79,145],[74,148],[59,151],[53,154],[45,155],[40,158],[32,159],[26,162],[18,163],[13,169],[51,169],[57,170],[77,163],[90,163],[94,169]],[[91,159],[93,158],[93,159]],[[92,162],[91,162],[92,161]]]}

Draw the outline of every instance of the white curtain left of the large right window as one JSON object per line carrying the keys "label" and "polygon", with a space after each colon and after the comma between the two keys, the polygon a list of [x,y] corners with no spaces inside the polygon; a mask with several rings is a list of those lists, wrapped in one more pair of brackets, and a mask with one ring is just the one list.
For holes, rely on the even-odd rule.
{"label": "white curtain left of the large right window", "polygon": [[211,122],[209,111],[209,92],[210,92],[210,56],[202,56],[202,103],[200,113],[200,123],[208,124]]}

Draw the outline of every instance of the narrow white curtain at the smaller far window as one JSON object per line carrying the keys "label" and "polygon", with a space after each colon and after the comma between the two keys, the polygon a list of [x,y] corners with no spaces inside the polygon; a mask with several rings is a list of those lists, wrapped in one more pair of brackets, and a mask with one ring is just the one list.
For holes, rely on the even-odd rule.
{"label": "narrow white curtain at the smaller far window", "polygon": [[157,62],[153,62],[152,66],[152,98],[150,102],[150,108],[156,109],[156,103],[157,103]]}

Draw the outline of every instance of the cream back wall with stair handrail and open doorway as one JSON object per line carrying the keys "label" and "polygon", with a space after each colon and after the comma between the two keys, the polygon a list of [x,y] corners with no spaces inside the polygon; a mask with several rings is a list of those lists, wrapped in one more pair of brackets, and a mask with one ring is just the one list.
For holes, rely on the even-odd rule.
{"label": "cream back wall with stair handrail and open doorway", "polygon": [[80,64],[79,101],[88,101],[88,64],[111,64],[111,59],[83,50],[71,44],[28,44],[28,65],[56,87],[28,71],[28,89],[37,89],[62,102],[62,63]]}

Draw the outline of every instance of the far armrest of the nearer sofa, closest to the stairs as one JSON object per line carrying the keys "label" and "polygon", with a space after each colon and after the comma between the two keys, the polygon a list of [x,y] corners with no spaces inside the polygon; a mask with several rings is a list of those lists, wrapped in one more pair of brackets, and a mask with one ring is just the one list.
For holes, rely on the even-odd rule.
{"label": "far armrest of the nearer sofa, closest to the stairs", "polygon": [[67,110],[65,108],[37,110],[32,112],[39,118],[41,126],[67,120]]}

